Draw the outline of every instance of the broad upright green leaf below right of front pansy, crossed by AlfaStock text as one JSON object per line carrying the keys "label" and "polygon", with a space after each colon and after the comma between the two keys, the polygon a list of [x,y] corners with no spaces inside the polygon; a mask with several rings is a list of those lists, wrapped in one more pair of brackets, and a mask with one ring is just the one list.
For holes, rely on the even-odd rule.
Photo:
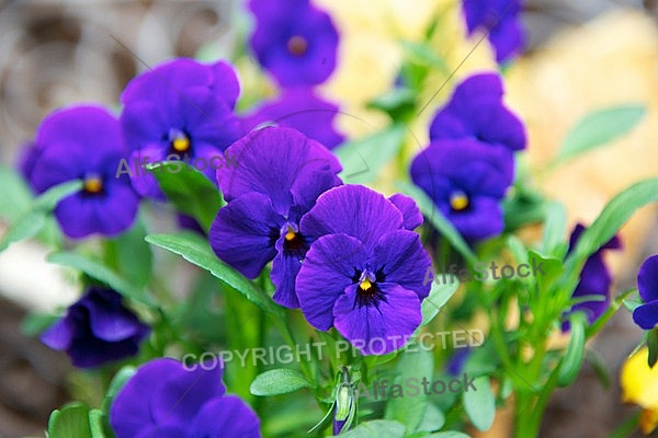
{"label": "broad upright green leaf below right of front pansy, crossed by AlfaStock text", "polygon": [[[429,397],[421,390],[420,381],[423,377],[431,377],[434,370],[434,357],[431,351],[419,348],[417,351],[405,350],[396,365],[394,384],[408,389],[409,379],[416,381],[419,394],[415,396],[389,397],[384,413],[385,419],[395,419],[407,427],[409,433],[416,431],[426,415]],[[392,387],[393,389],[393,387]],[[402,390],[404,391],[404,390]]]}

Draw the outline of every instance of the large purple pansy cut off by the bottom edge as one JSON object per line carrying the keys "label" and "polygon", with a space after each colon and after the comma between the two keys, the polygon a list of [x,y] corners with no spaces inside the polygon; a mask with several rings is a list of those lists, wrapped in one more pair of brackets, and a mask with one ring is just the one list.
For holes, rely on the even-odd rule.
{"label": "large purple pansy cut off by the bottom edge", "polygon": [[258,438],[260,420],[239,397],[225,395],[222,366],[186,369],[172,358],[137,369],[110,411],[116,438]]}

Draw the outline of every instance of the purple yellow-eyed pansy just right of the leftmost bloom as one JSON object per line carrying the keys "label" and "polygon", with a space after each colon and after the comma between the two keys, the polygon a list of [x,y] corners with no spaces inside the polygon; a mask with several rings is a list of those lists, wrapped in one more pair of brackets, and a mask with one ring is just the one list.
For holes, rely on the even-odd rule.
{"label": "purple yellow-eyed pansy just right of the leftmost bloom", "polygon": [[[245,132],[234,107],[239,84],[224,61],[175,59],[133,79],[124,90],[121,122],[134,151],[125,169],[143,196],[162,198],[140,163],[188,161],[214,181],[213,162]],[[135,169],[136,168],[136,169]]]}

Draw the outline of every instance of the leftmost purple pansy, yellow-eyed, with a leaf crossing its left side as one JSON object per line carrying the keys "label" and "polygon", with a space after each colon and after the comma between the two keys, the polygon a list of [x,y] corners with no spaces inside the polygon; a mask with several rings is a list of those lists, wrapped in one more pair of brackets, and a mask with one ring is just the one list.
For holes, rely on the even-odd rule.
{"label": "leftmost purple pansy, yellow-eyed, with a leaf crossing its left side", "polygon": [[66,235],[116,235],[132,226],[139,198],[127,176],[115,177],[127,150],[117,119],[106,110],[75,106],[52,113],[38,127],[32,150],[25,171],[36,193],[67,181],[83,182],[80,192],[55,208]]}

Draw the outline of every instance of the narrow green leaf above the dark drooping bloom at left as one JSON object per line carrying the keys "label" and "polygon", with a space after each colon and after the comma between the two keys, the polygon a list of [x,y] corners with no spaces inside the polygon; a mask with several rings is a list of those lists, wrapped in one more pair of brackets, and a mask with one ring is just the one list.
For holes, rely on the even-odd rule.
{"label": "narrow green leaf above the dark drooping bloom at left", "polygon": [[126,298],[141,302],[149,307],[155,304],[154,300],[144,291],[144,289],[131,285],[100,262],[87,258],[77,253],[67,252],[50,253],[46,260],[61,266],[71,267],[91,278],[104,283]]}

